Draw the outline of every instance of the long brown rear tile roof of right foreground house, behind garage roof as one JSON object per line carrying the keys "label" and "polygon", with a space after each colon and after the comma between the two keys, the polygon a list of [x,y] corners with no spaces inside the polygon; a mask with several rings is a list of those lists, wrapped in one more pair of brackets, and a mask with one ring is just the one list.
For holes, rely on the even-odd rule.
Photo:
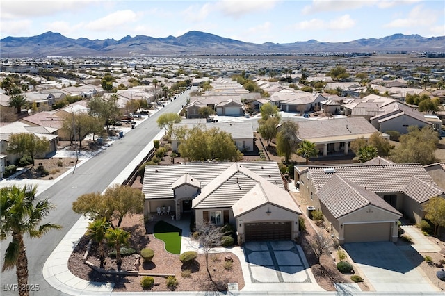
{"label": "long brown rear tile roof of right foreground house, behind garage roof", "polygon": [[[366,190],[375,193],[403,192],[417,202],[426,202],[430,197],[444,193],[420,163],[344,165],[332,167],[333,173],[325,172],[325,168],[308,167],[307,169],[309,178],[317,192],[325,186],[332,176],[338,175],[366,188]],[[415,183],[418,187],[412,188],[412,183]]]}

